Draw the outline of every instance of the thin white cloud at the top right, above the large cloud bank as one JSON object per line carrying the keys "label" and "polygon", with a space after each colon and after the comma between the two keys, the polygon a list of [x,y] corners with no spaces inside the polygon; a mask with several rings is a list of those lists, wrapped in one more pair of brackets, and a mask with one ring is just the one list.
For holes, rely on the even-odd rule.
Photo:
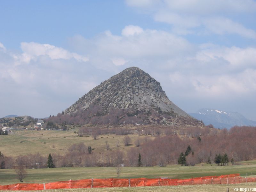
{"label": "thin white cloud at the top right, above the large cloud bank", "polygon": [[[142,13],[151,15],[155,21],[170,24],[172,32],[178,35],[236,34],[256,39],[254,23],[251,28],[247,27],[247,20],[242,17],[256,12],[256,2],[253,0],[163,0],[155,3],[151,1],[136,3],[127,0],[126,2]],[[236,21],[238,19],[234,15],[236,17],[241,15],[242,19]]]}

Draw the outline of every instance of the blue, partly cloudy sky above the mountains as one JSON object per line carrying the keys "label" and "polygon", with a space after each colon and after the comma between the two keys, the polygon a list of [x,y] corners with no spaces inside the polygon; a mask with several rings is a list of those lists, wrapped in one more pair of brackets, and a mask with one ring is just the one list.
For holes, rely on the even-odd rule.
{"label": "blue, partly cloudy sky above the mountains", "polygon": [[125,68],[186,112],[256,120],[256,1],[0,2],[0,117],[47,117]]}

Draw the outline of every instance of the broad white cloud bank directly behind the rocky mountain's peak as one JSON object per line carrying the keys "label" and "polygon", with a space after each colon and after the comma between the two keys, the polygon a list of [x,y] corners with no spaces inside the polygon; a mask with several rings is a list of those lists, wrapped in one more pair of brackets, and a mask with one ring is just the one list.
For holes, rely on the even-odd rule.
{"label": "broad white cloud bank directly behind the rocky mountain's peak", "polygon": [[[20,103],[46,100],[49,103],[45,102],[42,110],[57,114],[100,82],[131,66],[159,81],[169,99],[178,101],[184,110],[188,108],[185,100],[198,100],[201,107],[208,107],[202,105],[209,102],[255,100],[256,48],[194,45],[171,32],[133,27],[140,29],[139,33],[118,36],[106,31],[90,39],[70,38],[73,52],[33,42],[22,43],[21,53],[0,52],[0,86],[10,90],[10,98],[2,99],[1,106],[12,102],[18,93]],[[84,55],[90,57],[84,60],[86,64],[81,62]],[[22,110],[21,104],[16,106]],[[32,104],[27,110],[33,111]]]}

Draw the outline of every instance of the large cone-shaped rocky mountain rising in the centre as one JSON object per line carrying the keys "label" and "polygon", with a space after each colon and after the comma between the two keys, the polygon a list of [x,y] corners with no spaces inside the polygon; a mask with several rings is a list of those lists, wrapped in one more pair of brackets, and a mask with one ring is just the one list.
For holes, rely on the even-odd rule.
{"label": "large cone-shaped rocky mountain rising in the centre", "polygon": [[200,124],[167,98],[159,82],[137,67],[102,82],[64,111],[72,116],[83,113],[94,120],[95,116],[118,116],[119,123]]}

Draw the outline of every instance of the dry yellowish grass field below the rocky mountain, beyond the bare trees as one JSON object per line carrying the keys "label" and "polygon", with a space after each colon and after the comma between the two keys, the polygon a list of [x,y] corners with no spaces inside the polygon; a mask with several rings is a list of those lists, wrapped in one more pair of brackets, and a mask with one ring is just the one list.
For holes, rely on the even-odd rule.
{"label": "dry yellowish grass field below the rocky mountain, beyond the bare trees", "polygon": [[[77,129],[76,129],[77,130]],[[132,143],[139,137],[137,134],[129,135]],[[154,138],[151,136],[140,136]],[[15,130],[13,134],[1,135],[0,151],[5,156],[26,155],[29,153],[35,154],[40,152],[42,155],[49,153],[64,154],[68,148],[74,143],[84,142],[86,146],[95,148],[94,153],[99,153],[106,150],[106,141],[112,150],[127,150],[134,145],[124,146],[123,135],[100,135],[94,140],[91,136],[79,137],[75,131],[49,131],[49,130]],[[119,147],[116,147],[116,141],[119,141]]]}

